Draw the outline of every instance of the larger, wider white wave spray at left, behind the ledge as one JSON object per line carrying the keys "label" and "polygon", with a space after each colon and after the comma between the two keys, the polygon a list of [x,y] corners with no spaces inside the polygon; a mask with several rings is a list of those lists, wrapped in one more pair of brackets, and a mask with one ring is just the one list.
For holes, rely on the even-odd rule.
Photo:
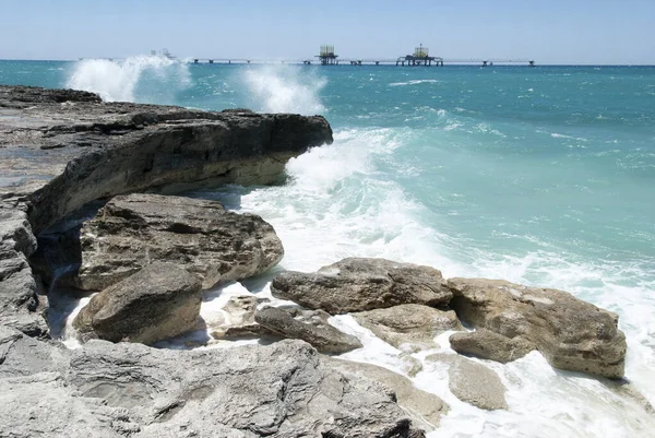
{"label": "larger, wider white wave spray at left, behind the ledge", "polygon": [[[162,56],[135,56],[81,60],[67,86],[98,93],[106,102],[172,103],[171,93],[190,82],[189,69],[182,62]],[[145,95],[138,93],[140,87],[145,88]]]}

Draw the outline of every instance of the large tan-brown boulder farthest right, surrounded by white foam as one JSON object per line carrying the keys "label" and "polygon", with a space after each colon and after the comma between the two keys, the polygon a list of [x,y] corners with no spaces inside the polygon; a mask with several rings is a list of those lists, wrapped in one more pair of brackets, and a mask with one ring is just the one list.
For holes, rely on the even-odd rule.
{"label": "large tan-brown boulder farthest right, surrounded by white foam", "polygon": [[616,315],[557,289],[484,279],[448,285],[451,307],[476,328],[528,341],[556,368],[623,376],[626,336]]}

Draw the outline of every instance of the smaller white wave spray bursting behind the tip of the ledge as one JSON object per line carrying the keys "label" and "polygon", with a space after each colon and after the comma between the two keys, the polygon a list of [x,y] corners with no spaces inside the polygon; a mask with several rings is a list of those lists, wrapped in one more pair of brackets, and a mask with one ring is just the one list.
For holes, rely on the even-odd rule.
{"label": "smaller white wave spray bursting behind the tip of the ledge", "polygon": [[313,70],[289,66],[261,66],[243,76],[252,107],[265,113],[315,115],[325,111],[319,97],[324,78]]}

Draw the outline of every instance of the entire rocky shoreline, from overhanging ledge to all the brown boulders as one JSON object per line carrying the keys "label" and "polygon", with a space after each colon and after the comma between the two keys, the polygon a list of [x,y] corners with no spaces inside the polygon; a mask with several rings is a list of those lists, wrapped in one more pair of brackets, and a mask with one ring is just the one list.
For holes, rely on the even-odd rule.
{"label": "entire rocky shoreline, from overhanging ledge to all the brown boulders", "polygon": [[[204,321],[203,291],[270,271],[284,242],[257,215],[171,194],[274,184],[290,157],[331,142],[320,116],[0,86],[0,435],[417,438],[438,427],[449,407],[437,395],[384,368],[327,356],[362,346],[330,323],[337,315],[405,355],[429,353],[436,336],[453,332],[461,354],[426,360],[448,366],[451,392],[479,409],[508,409],[505,389],[466,356],[507,363],[538,351],[559,369],[623,377],[616,315],[561,291],[446,280],[400,261],[282,272],[271,292],[287,305],[236,296],[223,320]],[[37,241],[97,200],[94,217]],[[47,324],[58,284],[96,293],[74,318],[84,345],[72,351]],[[211,333],[201,345],[269,341],[147,346],[194,330]]]}

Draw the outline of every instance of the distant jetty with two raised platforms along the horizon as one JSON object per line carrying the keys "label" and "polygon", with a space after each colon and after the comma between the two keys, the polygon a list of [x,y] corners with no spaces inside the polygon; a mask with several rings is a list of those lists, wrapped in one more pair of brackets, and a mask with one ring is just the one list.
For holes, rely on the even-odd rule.
{"label": "distant jetty with two raised platforms along the horizon", "polygon": [[[410,55],[404,55],[396,58],[340,58],[334,50],[333,45],[323,45],[320,48],[319,55],[309,59],[285,59],[285,60],[269,60],[269,59],[250,59],[250,58],[192,58],[193,63],[287,63],[287,64],[305,64],[311,66],[318,63],[320,66],[407,66],[407,67],[443,67],[445,63],[453,64],[479,64],[481,67],[491,67],[493,64],[525,64],[535,67],[535,61],[524,58],[442,58],[430,56],[430,49],[420,44],[414,49]],[[318,58],[318,60],[315,59]]]}

